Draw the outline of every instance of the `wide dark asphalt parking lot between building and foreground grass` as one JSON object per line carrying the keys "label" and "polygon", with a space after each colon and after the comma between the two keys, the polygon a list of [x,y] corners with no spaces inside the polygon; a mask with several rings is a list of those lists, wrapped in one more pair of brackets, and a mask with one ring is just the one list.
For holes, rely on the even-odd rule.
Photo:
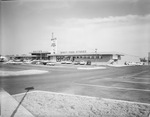
{"label": "wide dark asphalt parking lot between building and foreground grass", "polygon": [[11,95],[25,92],[26,87],[33,86],[35,90],[150,103],[150,66],[97,70],[78,70],[77,67],[1,64],[0,70],[3,71],[48,71],[40,75],[1,77],[1,87]]}

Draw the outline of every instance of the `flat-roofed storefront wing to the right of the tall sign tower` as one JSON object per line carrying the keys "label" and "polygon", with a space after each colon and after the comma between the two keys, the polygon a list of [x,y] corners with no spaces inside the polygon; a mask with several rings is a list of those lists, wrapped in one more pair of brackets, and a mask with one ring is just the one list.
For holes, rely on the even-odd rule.
{"label": "flat-roofed storefront wing to the right of the tall sign tower", "polygon": [[49,60],[55,62],[61,61],[91,61],[92,64],[106,65],[117,64],[121,60],[123,54],[120,53],[108,53],[108,52],[96,52],[96,53],[63,53],[49,55]]}

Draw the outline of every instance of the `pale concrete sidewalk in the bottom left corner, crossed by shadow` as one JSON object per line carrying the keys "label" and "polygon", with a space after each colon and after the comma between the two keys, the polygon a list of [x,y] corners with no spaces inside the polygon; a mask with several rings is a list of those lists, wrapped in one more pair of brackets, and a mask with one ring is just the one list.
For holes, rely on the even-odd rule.
{"label": "pale concrete sidewalk in the bottom left corner, crossed by shadow", "polygon": [[1,115],[0,117],[34,117],[6,91],[0,90]]}

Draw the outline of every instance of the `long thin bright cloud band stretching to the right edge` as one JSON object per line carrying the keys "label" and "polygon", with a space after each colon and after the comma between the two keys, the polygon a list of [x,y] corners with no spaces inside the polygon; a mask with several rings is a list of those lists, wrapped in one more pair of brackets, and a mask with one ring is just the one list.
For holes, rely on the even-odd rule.
{"label": "long thin bright cloud band stretching to the right edge", "polygon": [[126,16],[109,16],[104,18],[71,18],[64,21],[64,26],[87,26],[87,25],[97,25],[97,24],[127,24],[127,23],[150,23],[150,14],[145,16],[139,15],[126,15]]}

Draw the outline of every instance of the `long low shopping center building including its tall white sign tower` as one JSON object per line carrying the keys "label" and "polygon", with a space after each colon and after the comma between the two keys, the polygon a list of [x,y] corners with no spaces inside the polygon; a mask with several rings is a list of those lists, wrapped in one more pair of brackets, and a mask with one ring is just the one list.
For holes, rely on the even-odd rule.
{"label": "long low shopping center building including its tall white sign tower", "polygon": [[[88,52],[86,50],[79,51],[57,51],[57,38],[51,39],[51,52],[48,51],[33,51],[31,56],[26,59],[36,60],[50,60],[53,62],[61,61],[90,61],[92,64],[106,65],[106,64],[124,64],[125,62],[140,62],[137,56],[122,54],[118,52]],[[25,58],[25,56],[22,56]]]}

